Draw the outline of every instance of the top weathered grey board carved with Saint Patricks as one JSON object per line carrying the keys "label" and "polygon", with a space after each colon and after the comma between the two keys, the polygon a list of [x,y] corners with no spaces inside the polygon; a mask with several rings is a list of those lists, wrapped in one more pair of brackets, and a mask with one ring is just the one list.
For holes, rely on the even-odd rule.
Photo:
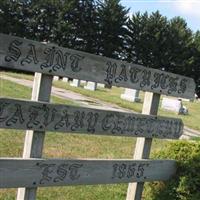
{"label": "top weathered grey board carved with Saint Patricks", "polygon": [[0,66],[189,99],[195,92],[191,78],[4,34]]}

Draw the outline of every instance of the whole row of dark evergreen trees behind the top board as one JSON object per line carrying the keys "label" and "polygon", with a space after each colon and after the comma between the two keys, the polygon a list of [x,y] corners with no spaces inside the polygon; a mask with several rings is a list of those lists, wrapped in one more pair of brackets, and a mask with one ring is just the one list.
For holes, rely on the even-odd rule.
{"label": "whole row of dark evergreen trees behind the top board", "polygon": [[[2,33],[190,76],[200,95],[200,31],[120,0],[1,0]],[[198,87],[199,86],[199,87]]]}

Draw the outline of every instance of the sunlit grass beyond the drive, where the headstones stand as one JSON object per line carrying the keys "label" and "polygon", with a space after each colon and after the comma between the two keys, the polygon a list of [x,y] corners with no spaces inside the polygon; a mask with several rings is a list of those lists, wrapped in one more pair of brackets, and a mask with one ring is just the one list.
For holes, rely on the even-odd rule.
{"label": "sunlit grass beyond the drive, where the headstones stand", "polygon": [[[27,80],[33,80],[33,75],[27,75],[27,74],[21,74],[21,73],[12,73],[12,72],[1,72],[2,75],[8,75],[19,79],[27,79]],[[120,98],[120,95],[124,92],[123,88],[118,87],[112,87],[112,89],[107,88],[97,88],[96,91],[89,91],[83,88],[83,84],[81,84],[80,87],[72,87],[69,83],[62,82],[62,81],[54,81],[53,85],[70,90],[79,94],[82,94],[84,96],[94,98],[94,103],[96,100],[101,100],[104,102],[108,102],[114,105],[117,105],[119,107],[129,109],[135,112],[141,112],[142,111],[142,105],[143,105],[143,99],[144,99],[144,92],[140,92],[140,98],[141,102],[132,103],[125,101]],[[172,98],[172,97],[170,97]],[[161,96],[162,101],[162,96]],[[160,103],[161,103],[160,101]],[[181,118],[183,120],[183,123],[185,126],[192,128],[194,130],[200,131],[200,101],[194,101],[194,102],[188,102],[183,101],[183,105],[186,106],[189,110],[189,115],[177,115],[175,112],[165,111],[162,109],[159,109],[158,115],[166,116],[166,117],[175,117],[175,118]]]}

